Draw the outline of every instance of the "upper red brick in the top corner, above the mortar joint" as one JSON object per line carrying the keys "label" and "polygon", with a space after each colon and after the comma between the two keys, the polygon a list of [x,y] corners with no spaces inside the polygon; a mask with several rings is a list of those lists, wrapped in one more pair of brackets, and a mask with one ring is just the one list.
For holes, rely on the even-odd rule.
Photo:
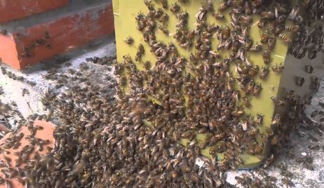
{"label": "upper red brick in the top corner, above the mortar joint", "polygon": [[0,23],[65,6],[69,0],[1,0]]}

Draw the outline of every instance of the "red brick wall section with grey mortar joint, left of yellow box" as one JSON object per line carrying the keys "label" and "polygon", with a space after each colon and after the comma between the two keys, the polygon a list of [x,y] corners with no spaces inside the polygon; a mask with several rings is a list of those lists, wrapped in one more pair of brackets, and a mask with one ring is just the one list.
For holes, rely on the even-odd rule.
{"label": "red brick wall section with grey mortar joint, left of yellow box", "polygon": [[1,61],[15,69],[25,69],[112,34],[112,3],[2,0],[0,30]]}

